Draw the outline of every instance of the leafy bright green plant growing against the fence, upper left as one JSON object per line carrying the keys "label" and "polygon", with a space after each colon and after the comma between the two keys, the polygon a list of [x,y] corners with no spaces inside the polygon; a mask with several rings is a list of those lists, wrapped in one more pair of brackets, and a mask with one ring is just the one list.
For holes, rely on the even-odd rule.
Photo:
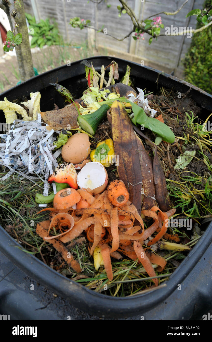
{"label": "leafy bright green plant growing against the fence, upper left", "polygon": [[59,35],[57,24],[50,24],[49,19],[41,19],[40,23],[36,23],[35,17],[26,13],[27,20],[29,22],[31,48],[38,46],[42,48],[44,45],[61,45],[62,37]]}

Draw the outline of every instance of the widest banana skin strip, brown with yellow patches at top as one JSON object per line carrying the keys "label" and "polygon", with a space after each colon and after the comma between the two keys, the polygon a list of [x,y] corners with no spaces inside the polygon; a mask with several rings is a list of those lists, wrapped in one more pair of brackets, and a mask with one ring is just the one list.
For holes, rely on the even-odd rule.
{"label": "widest banana skin strip, brown with yellow patches at top", "polygon": [[119,155],[118,175],[128,189],[129,200],[136,206],[140,214],[142,174],[136,135],[132,122],[121,102],[114,101],[110,111],[114,150],[115,154]]}

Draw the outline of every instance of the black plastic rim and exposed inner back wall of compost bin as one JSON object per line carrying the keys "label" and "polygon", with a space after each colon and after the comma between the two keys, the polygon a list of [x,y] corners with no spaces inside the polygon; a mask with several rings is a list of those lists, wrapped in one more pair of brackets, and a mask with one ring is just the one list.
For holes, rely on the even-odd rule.
{"label": "black plastic rim and exposed inner back wall of compost bin", "polygon": [[[100,72],[102,65],[108,65],[113,58],[107,56],[90,57],[88,60],[93,61],[94,68]],[[186,93],[201,108],[202,112],[199,118],[205,120],[212,111],[212,96],[201,89],[182,81],[175,76],[161,73],[150,67],[140,66],[136,63],[115,58],[119,65],[120,79],[124,75],[126,66],[131,66],[131,78],[134,87],[147,89],[147,91],[157,92],[160,87],[166,89],[173,88],[176,92]],[[47,71],[46,73],[36,76],[20,85],[4,92],[0,95],[0,100],[4,97],[9,101],[22,102],[26,97],[29,98],[30,92],[40,91],[41,93],[41,111],[54,109],[54,103],[62,108],[63,99],[49,83],[58,82],[62,86],[69,89],[76,98],[81,97],[82,92],[87,88],[87,80],[85,79],[85,65],[80,61],[71,63],[70,66],[61,66],[59,68]],[[2,122],[4,122],[4,113],[0,111]],[[70,301],[73,305],[81,310],[88,311],[96,315],[104,315],[105,317],[125,317],[135,315],[150,310],[158,303],[168,297],[177,285],[191,272],[193,267],[204,254],[208,246],[212,242],[212,223],[208,226],[200,241],[190,251],[188,256],[177,267],[176,271],[166,281],[166,286],[157,288],[156,291],[149,291],[143,294],[134,295],[126,298],[114,298],[95,293],[92,290],[70,281],[70,279],[57,273],[39,259],[35,258],[19,248],[19,244],[0,227],[0,249],[2,252],[22,271],[31,276],[42,285],[52,289],[61,297]],[[188,285],[188,284],[187,284]],[[198,295],[198,294],[197,294]]]}

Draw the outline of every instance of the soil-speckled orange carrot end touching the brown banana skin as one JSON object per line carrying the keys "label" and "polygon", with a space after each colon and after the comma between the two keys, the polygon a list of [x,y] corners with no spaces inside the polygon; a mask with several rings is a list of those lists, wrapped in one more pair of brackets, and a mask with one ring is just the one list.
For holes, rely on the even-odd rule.
{"label": "soil-speckled orange carrot end touching the brown banana skin", "polygon": [[113,206],[123,206],[129,199],[129,193],[124,182],[118,179],[110,182],[107,188],[107,197]]}

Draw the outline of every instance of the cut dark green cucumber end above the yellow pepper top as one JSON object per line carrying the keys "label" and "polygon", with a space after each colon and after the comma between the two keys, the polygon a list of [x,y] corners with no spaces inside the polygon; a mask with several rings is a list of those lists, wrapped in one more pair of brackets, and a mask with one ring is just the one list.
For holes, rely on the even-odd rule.
{"label": "cut dark green cucumber end above the yellow pepper top", "polygon": [[77,120],[80,127],[87,133],[94,135],[99,124],[105,118],[109,108],[108,105],[104,104],[92,114],[78,116]]}

